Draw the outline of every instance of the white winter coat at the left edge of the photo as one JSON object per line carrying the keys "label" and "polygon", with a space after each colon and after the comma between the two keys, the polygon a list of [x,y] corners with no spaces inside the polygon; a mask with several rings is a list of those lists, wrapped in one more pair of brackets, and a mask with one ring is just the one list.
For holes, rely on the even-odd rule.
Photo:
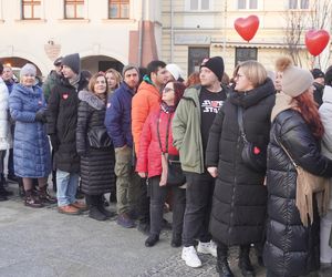
{"label": "white winter coat at the left edge of the photo", "polygon": [[10,143],[10,125],[8,117],[9,93],[2,78],[0,78],[0,151],[7,150]]}

